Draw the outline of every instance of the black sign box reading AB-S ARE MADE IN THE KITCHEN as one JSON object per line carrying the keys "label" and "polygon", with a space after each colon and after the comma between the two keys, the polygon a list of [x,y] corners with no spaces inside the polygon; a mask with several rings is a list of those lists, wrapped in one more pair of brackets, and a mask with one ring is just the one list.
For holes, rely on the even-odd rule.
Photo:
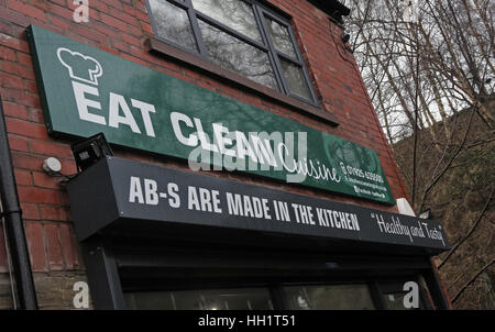
{"label": "black sign box reading AB-S ARE MADE IN THE KITCHEN", "polygon": [[120,233],[353,253],[449,250],[436,221],[116,157],[89,167],[67,189],[79,241]]}

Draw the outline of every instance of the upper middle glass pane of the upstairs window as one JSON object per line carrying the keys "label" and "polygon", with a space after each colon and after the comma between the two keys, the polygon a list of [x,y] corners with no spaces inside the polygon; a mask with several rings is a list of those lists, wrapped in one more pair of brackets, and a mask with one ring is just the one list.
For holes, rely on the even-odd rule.
{"label": "upper middle glass pane of the upstairs window", "polygon": [[193,0],[193,4],[196,10],[235,32],[261,42],[260,31],[250,4],[240,0]]}

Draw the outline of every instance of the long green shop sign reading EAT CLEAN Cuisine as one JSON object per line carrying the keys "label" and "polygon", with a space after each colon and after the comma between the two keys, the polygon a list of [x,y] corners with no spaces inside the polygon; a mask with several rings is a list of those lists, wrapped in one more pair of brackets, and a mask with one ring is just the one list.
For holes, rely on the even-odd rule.
{"label": "long green shop sign reading EAT CLEAN Cuisine", "polygon": [[395,203],[373,150],[31,25],[50,134]]}

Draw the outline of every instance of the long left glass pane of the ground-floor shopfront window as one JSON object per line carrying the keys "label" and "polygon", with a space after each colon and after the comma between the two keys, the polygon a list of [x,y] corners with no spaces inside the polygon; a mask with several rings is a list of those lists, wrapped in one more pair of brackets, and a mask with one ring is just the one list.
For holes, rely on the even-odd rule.
{"label": "long left glass pane of the ground-floor shopfront window", "polygon": [[133,292],[124,295],[138,310],[272,310],[265,288]]}

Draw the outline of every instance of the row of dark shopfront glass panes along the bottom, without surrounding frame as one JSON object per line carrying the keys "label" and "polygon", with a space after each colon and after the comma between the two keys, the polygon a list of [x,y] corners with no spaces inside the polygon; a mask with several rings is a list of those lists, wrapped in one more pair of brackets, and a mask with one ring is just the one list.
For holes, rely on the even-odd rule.
{"label": "row of dark shopfront glass panes along the bottom, without surrounding frame", "polygon": [[[376,285],[377,291],[372,291]],[[124,292],[125,308],[135,310],[409,310],[432,309],[428,289],[418,290],[418,305],[406,306],[403,281],[284,285],[168,291]],[[274,297],[275,296],[275,297]],[[410,296],[410,295],[409,295]],[[275,298],[282,299],[276,301]]]}

